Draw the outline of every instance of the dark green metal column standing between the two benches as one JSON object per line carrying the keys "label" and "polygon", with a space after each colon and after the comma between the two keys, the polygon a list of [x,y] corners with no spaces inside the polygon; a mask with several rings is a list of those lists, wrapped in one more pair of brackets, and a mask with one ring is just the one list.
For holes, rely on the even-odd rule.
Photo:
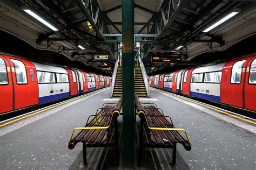
{"label": "dark green metal column standing between the two benches", "polygon": [[123,167],[134,167],[134,7],[122,0]]}

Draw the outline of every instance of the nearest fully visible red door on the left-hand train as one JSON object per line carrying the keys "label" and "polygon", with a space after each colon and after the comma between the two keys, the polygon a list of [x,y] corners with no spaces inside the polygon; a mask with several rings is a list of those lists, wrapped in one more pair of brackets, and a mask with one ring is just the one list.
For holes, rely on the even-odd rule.
{"label": "nearest fully visible red door on the left-hand train", "polygon": [[28,60],[3,55],[11,64],[15,110],[38,104],[36,68]]}

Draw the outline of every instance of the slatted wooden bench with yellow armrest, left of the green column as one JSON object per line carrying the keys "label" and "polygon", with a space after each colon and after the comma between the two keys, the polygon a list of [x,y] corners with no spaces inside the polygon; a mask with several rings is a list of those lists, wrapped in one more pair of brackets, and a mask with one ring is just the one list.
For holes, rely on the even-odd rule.
{"label": "slatted wooden bench with yellow armrest, left of the green column", "polygon": [[[116,104],[116,105],[110,105]],[[117,103],[103,104],[99,108],[96,115],[91,115],[87,119],[84,127],[73,129],[68,148],[72,150],[77,143],[83,143],[83,161],[87,164],[86,147],[115,147],[116,161],[119,162],[119,147],[118,147],[118,123],[117,117],[120,115],[122,108],[122,97]],[[110,142],[110,133],[114,127],[114,143]],[[76,131],[76,134],[74,135]]]}

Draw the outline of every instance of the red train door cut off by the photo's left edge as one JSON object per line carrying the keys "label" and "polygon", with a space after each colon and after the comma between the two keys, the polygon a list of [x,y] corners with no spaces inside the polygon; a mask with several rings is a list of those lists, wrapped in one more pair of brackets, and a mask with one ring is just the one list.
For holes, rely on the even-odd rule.
{"label": "red train door cut off by the photo's left edge", "polygon": [[9,60],[0,55],[0,113],[14,110],[14,85]]}

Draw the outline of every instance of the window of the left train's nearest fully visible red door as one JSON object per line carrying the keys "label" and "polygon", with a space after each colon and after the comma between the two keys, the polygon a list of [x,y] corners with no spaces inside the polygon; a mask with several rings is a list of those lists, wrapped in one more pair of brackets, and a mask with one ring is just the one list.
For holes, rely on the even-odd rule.
{"label": "window of the left train's nearest fully visible red door", "polygon": [[14,59],[11,59],[11,61],[14,63],[17,84],[27,84],[28,79],[26,78],[26,67],[24,63]]}

